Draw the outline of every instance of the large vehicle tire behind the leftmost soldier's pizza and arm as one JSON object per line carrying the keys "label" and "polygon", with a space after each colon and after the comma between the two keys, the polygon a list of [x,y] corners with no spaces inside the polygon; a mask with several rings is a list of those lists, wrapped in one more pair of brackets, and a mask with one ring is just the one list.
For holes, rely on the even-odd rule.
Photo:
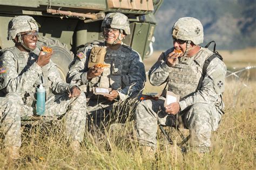
{"label": "large vehicle tire behind the leftmost soldier's pizza and arm", "polygon": [[37,41],[38,48],[48,46],[52,48],[53,54],[51,60],[56,64],[60,77],[66,81],[66,74],[69,71],[69,64],[73,61],[74,54],[68,49],[68,46],[54,38],[40,37]]}

